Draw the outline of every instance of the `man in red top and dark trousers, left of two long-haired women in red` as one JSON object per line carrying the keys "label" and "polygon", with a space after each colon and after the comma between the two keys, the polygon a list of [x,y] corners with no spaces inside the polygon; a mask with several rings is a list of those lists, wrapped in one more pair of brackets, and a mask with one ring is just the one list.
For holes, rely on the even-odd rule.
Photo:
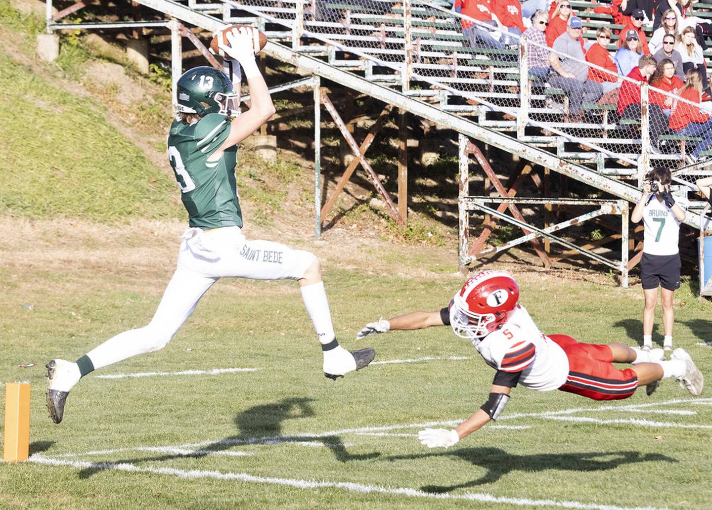
{"label": "man in red top and dark trousers, left of two long-haired women in red", "polygon": [[[643,55],[636,68],[628,74],[629,80],[623,80],[618,93],[618,115],[621,119],[637,119],[642,116],[642,105],[640,104],[640,85],[647,82],[648,78],[655,72],[657,64],[652,55]],[[633,80],[633,81],[631,81]],[[668,120],[663,114],[659,105],[649,102],[648,105],[650,141],[651,149],[660,152],[658,148],[658,137],[667,132]]]}

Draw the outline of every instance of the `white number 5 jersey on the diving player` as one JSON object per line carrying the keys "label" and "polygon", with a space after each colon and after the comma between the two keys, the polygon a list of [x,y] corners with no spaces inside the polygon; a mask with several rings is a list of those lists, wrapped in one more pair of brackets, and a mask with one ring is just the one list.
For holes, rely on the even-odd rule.
{"label": "white number 5 jersey on the diving player", "polygon": [[556,390],[569,373],[563,349],[539,331],[520,304],[500,329],[485,336],[475,348],[492,368],[521,372],[519,383],[530,390]]}

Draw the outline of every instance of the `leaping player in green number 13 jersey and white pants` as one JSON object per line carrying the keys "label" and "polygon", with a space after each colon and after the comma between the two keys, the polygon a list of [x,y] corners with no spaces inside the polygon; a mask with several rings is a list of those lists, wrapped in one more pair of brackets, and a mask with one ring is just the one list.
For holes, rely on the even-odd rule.
{"label": "leaping player in green number 13 jersey and white pants", "polygon": [[236,144],[275,112],[255,62],[257,36],[251,28],[234,28],[226,36],[229,45],[221,45],[229,55],[226,68],[234,82],[240,83],[240,65],[247,79],[251,107],[241,115],[231,119],[239,93],[222,71],[193,68],[178,80],[179,116],[170,128],[168,158],[188,211],[189,228],[182,236],[176,271],[147,326],[117,334],[74,363],[53,359],[47,364],[47,408],[54,423],[61,422],[67,395],[81,377],[130,356],[162,349],[221,277],[297,280],[321,343],[325,376],[336,379],[374,358],[373,349],[347,351],[338,344],[315,255],[280,243],[248,240],[242,233]]}

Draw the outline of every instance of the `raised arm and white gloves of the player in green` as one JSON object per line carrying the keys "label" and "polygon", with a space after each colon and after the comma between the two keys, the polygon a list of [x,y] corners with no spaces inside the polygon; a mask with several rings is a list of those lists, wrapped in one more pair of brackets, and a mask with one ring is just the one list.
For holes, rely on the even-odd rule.
{"label": "raised arm and white gloves of the player in green", "polygon": [[[248,27],[233,28],[226,34],[228,45],[220,44],[220,48],[230,58],[237,60],[242,66],[247,85],[250,90],[250,109],[232,119],[230,134],[221,147],[211,155],[221,154],[225,149],[239,144],[253,134],[262,124],[274,115],[275,109],[267,84],[255,61],[253,50],[253,31]],[[234,84],[239,87],[240,84]]]}

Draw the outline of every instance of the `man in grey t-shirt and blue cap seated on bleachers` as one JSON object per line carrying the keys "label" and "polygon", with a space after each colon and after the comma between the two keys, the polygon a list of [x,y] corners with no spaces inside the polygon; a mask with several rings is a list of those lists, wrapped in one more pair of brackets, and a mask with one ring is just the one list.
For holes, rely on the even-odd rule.
{"label": "man in grey t-shirt and blue cap seated on bleachers", "polygon": [[581,20],[572,16],[566,32],[556,38],[549,55],[549,63],[553,68],[549,84],[566,92],[569,97],[569,113],[574,120],[580,120],[583,102],[596,102],[603,95],[602,85],[587,78],[588,65],[579,42],[581,30]]}

